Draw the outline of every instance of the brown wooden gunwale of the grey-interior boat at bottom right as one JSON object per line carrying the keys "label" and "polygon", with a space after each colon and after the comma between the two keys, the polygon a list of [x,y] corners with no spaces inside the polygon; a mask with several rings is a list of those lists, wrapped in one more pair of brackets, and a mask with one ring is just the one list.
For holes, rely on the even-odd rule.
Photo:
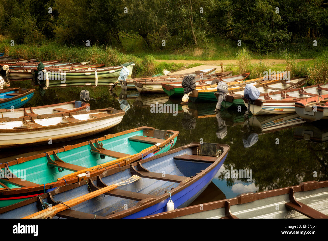
{"label": "brown wooden gunwale of the grey-interior boat at bottom right", "polygon": [[[296,192],[315,190],[315,189],[324,188],[324,187],[328,187],[328,181],[320,181],[320,182],[308,181],[308,182],[302,182],[299,185],[292,186],[292,187],[279,188],[279,189],[274,189],[274,190],[269,190],[269,191],[264,191],[264,192],[259,192],[259,193],[239,194],[233,198],[205,203],[205,204],[203,204],[202,211],[210,211],[210,210],[215,210],[218,208],[224,208],[226,206],[227,201],[230,202],[230,206],[231,206],[231,205],[236,205],[236,204],[249,203],[249,202],[253,202],[253,201],[268,198],[268,197],[290,194],[291,188],[293,188],[294,193],[296,193]],[[181,209],[177,209],[177,210],[173,210],[173,211],[169,211],[169,212],[165,212],[165,213],[154,214],[154,215],[150,215],[150,216],[143,217],[143,218],[174,218],[174,217],[180,217],[180,216],[183,216],[186,214],[199,213],[199,212],[200,212],[199,205],[195,205],[195,206],[181,208]]]}

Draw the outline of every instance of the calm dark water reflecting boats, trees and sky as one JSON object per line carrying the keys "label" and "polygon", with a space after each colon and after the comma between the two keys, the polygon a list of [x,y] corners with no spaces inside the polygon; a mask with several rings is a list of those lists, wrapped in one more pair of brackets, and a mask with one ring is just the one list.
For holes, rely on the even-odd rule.
{"label": "calm dark water reflecting boats, trees and sky", "polygon": [[[16,86],[31,87],[31,81],[10,83],[10,87]],[[161,130],[179,131],[174,147],[201,140],[230,145],[228,157],[220,171],[193,204],[231,198],[245,192],[298,185],[303,181],[327,179],[327,122],[301,123],[297,115],[250,117],[249,121],[245,121],[243,112],[238,112],[237,109],[224,110],[215,115],[215,103],[189,104],[187,111],[182,109],[179,101],[171,101],[165,94],[139,96],[137,91],[120,93],[120,87],[110,93],[108,87],[100,86],[51,88],[42,91],[36,87],[32,100],[25,107],[79,100],[82,89],[89,90],[90,97],[96,99],[90,101],[91,109],[109,106],[120,109],[119,101],[122,102],[122,98],[127,99],[130,109],[122,122],[109,131],[70,142],[53,143],[51,146],[3,149],[0,150],[1,162],[137,126],[151,126]],[[152,113],[150,105],[156,102],[177,103],[177,114]],[[225,170],[231,169],[247,169],[249,178],[229,178],[226,174],[228,171]]]}

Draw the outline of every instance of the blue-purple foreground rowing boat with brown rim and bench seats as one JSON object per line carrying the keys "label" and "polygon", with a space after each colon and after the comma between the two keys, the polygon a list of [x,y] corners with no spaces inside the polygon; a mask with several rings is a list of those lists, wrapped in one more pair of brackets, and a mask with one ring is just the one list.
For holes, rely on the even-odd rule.
{"label": "blue-purple foreground rowing boat with brown rim and bench seats", "polygon": [[[227,157],[229,148],[225,144],[200,145],[193,142],[124,167],[117,166],[103,171],[88,179],[88,182],[68,184],[50,193],[40,194],[40,197],[2,208],[0,217],[25,217],[42,210],[44,202],[54,204],[52,201],[55,200],[65,203],[75,198],[80,199],[90,191],[107,188],[132,175],[139,176],[139,180],[116,187],[70,210],[56,213],[56,217],[138,218],[164,212],[170,199],[174,202],[174,208],[185,207],[212,181]],[[52,206],[52,209],[56,207]]]}

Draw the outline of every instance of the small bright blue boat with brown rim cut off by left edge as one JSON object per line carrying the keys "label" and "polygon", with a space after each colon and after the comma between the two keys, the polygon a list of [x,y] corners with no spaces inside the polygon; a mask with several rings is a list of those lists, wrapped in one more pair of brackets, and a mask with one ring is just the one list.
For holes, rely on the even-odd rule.
{"label": "small bright blue boat with brown rim cut off by left edge", "polygon": [[35,89],[10,88],[0,90],[0,109],[19,108],[31,100]]}

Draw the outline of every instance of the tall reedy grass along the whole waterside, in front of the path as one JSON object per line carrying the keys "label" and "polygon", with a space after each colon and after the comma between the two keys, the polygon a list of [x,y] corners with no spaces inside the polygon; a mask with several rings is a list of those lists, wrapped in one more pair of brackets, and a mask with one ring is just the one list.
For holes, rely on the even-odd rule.
{"label": "tall reedy grass along the whole waterside, in front of the path", "polygon": [[[129,45],[127,45],[129,46]],[[200,49],[200,48],[199,48]],[[322,49],[321,49],[322,50]],[[162,73],[163,69],[167,69],[171,72],[181,68],[190,68],[201,65],[197,63],[197,56],[193,56],[194,64],[184,65],[181,63],[166,63],[156,62],[158,59],[158,53],[155,54],[137,54],[129,53],[125,54],[125,50],[119,50],[108,46],[91,46],[91,47],[67,47],[54,42],[43,42],[42,44],[22,44],[10,46],[10,40],[1,38],[0,36],[0,52],[12,55],[15,58],[38,58],[41,61],[62,59],[64,62],[84,62],[91,61],[91,64],[103,63],[106,66],[120,65],[122,63],[134,62],[133,77],[152,76],[158,73]],[[145,51],[145,50],[143,50]],[[186,50],[185,58],[191,58],[191,52],[195,51],[193,48]],[[317,54],[313,60],[297,61],[301,59],[300,54],[292,54],[288,51],[280,53],[280,57],[284,59],[283,64],[264,62],[251,63],[251,59],[254,57],[258,59],[265,59],[264,56],[256,56],[254,53],[249,51],[247,48],[239,48],[236,53],[232,53],[227,47],[225,52],[221,49],[215,52],[215,48],[211,51],[213,56],[221,54],[221,56],[228,56],[226,59],[235,59],[236,65],[227,65],[225,71],[232,70],[233,74],[240,74],[245,72],[251,72],[250,78],[259,78],[263,76],[264,71],[291,71],[291,76],[309,76],[309,84],[323,83],[328,81],[328,50],[322,50],[320,54]],[[202,50],[199,50],[200,56],[203,54]],[[223,54],[224,53],[224,54]],[[157,54],[157,55],[156,55]],[[164,55],[166,56],[166,55]],[[170,54],[171,57],[175,57],[175,60],[184,59],[182,55],[177,53]],[[166,56],[168,57],[168,56]],[[213,57],[214,58],[214,57]],[[270,56],[268,58],[273,58]],[[222,58],[221,58],[222,59]]]}

